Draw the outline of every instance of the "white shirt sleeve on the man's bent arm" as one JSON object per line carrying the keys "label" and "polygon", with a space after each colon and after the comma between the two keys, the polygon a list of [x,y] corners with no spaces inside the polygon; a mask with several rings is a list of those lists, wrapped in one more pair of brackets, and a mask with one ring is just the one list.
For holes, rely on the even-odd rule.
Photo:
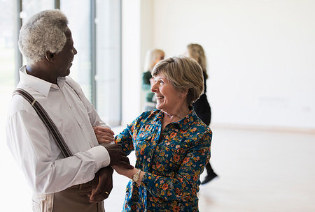
{"label": "white shirt sleeve on the man's bent arm", "polygon": [[6,132],[8,148],[37,193],[59,192],[91,181],[109,163],[103,146],[63,158],[41,119],[25,110],[8,117]]}

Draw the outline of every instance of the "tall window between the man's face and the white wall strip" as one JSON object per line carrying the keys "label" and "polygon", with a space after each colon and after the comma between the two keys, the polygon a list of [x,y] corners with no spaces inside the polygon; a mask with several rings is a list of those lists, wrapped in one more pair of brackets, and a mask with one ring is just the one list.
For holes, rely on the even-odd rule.
{"label": "tall window between the man's face and the white wall strip", "polygon": [[69,19],[78,50],[71,77],[106,123],[120,125],[121,2],[64,0],[60,1],[60,8]]}

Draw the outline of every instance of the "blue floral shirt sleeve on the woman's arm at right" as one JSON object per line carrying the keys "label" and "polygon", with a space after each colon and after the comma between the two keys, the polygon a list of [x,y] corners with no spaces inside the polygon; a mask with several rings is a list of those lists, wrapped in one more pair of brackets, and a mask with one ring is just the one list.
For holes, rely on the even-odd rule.
{"label": "blue floral shirt sleeve on the woman's arm at right", "polygon": [[159,176],[146,172],[141,185],[154,197],[169,200],[189,199],[196,195],[200,185],[200,174],[210,158],[211,133],[206,133],[190,148],[174,177]]}

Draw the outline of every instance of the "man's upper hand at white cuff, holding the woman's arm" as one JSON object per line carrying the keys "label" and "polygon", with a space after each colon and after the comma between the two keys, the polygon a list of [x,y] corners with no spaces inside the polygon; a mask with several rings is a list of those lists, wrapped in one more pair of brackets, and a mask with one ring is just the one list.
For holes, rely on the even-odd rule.
{"label": "man's upper hand at white cuff, holding the woman's arm", "polygon": [[127,155],[120,150],[118,144],[101,144],[104,146],[107,151],[109,151],[109,156],[111,158],[111,162],[109,165],[118,165],[125,169],[133,169],[134,167],[130,165],[129,158]]}

